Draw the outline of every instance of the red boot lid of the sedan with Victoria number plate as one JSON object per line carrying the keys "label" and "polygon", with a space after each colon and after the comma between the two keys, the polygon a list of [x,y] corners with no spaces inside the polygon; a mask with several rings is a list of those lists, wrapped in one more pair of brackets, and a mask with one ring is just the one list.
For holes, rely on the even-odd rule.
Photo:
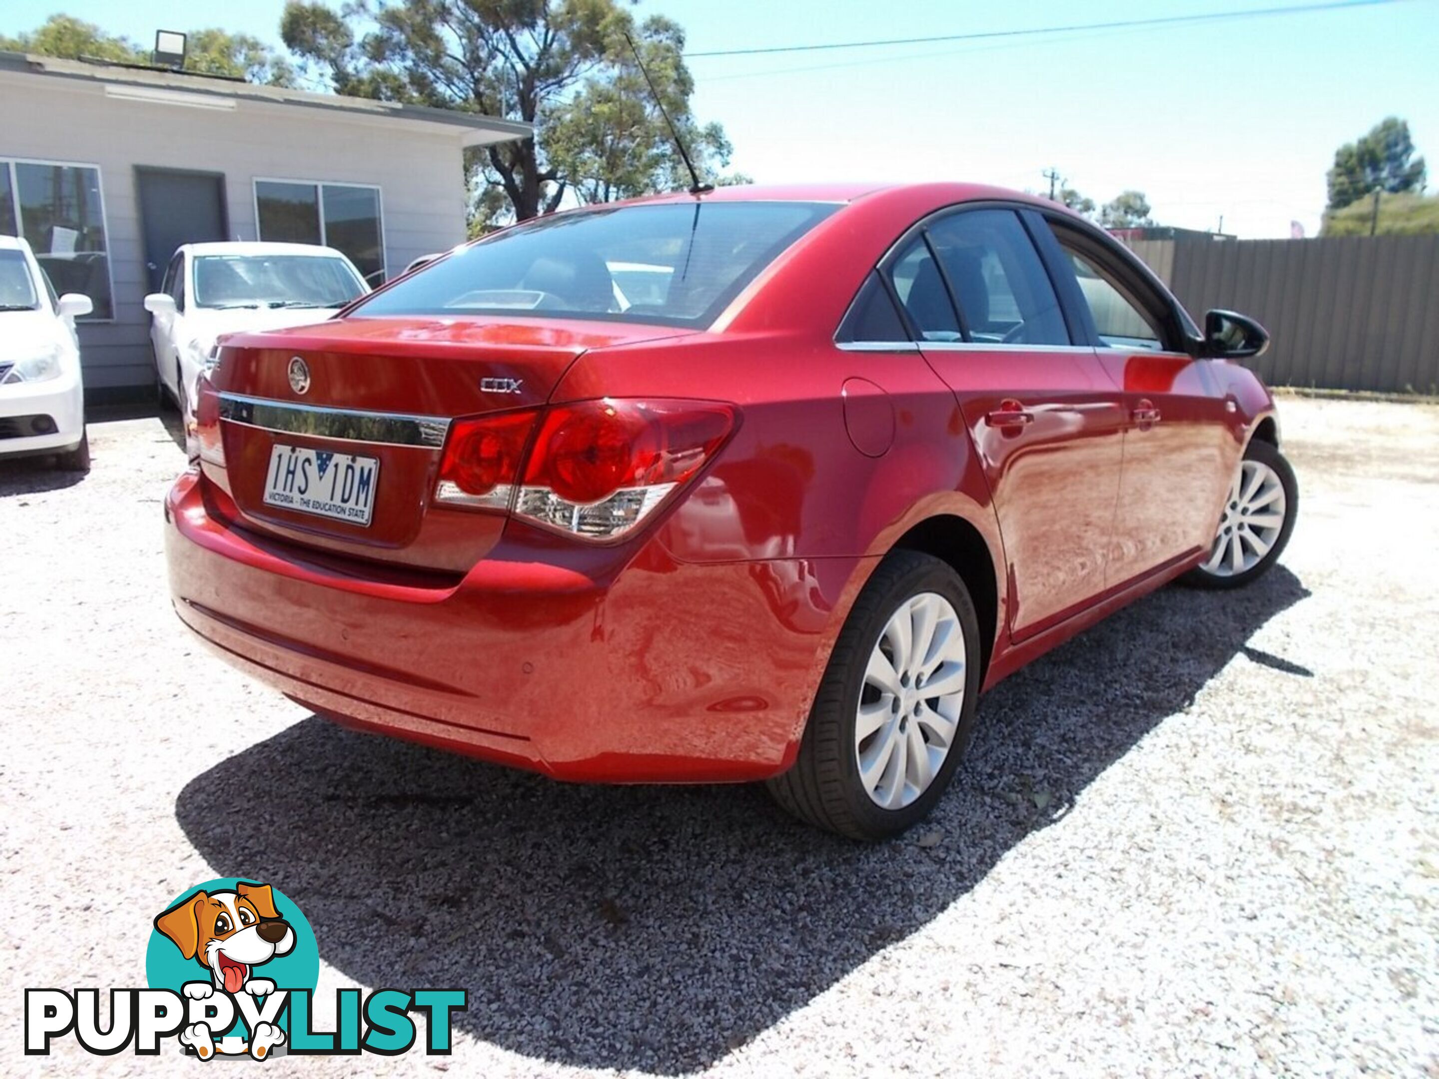
{"label": "red boot lid of the sedan with Victoria number plate", "polygon": [[684,332],[348,318],[226,338],[213,375],[224,463],[204,463],[217,509],[317,551],[463,573],[498,541],[504,516],[432,505],[450,422],[544,404],[584,351]]}

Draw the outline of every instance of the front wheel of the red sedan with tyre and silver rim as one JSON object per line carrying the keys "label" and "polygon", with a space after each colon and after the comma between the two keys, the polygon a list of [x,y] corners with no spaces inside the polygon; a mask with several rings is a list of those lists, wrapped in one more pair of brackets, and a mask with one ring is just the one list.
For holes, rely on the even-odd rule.
{"label": "front wheel of the red sedan with tyre and silver rim", "polygon": [[[1250,483],[1256,486],[1250,488]],[[1279,504],[1278,514],[1261,512],[1271,511],[1275,504]],[[1263,577],[1284,554],[1298,514],[1299,483],[1294,469],[1276,446],[1255,439],[1245,449],[1239,473],[1229,489],[1209,560],[1180,580],[1196,588],[1242,588]],[[1275,516],[1279,518],[1275,525],[1252,525]],[[1240,558],[1238,567],[1235,548]]]}

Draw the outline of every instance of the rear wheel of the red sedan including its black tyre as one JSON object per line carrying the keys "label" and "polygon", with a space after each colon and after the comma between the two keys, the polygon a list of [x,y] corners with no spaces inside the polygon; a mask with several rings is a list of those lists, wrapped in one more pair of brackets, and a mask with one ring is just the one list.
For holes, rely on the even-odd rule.
{"label": "rear wheel of the red sedan including its black tyre", "polygon": [[[914,619],[922,624],[930,610],[938,613],[938,620],[931,623],[931,645],[924,652],[947,659],[928,675],[925,660],[918,656],[914,663],[891,663],[881,680],[898,675],[904,679],[902,693],[881,692],[871,675],[871,660],[899,656],[891,620],[901,617],[901,611],[909,613],[911,617],[894,624],[911,626],[912,636]],[[958,659],[954,633],[963,642]],[[963,666],[955,669],[957,663]],[[941,682],[945,688],[955,686],[961,696],[924,696],[921,686],[937,688]],[[938,558],[895,551],[855,601],[814,695],[794,767],[768,781],[770,793],[780,806],[816,827],[859,840],[898,836],[927,817],[944,794],[974,729],[979,689],[979,619],[964,581]],[[856,738],[862,705],[871,718],[884,716],[882,725],[865,739]],[[886,738],[894,741],[891,757],[898,755],[905,768],[912,765],[932,775],[927,786],[909,784],[908,771],[898,775],[898,765],[882,755]],[[914,748],[915,739],[922,750]],[[941,750],[943,761],[934,767],[934,754]],[[871,767],[871,777],[881,774],[872,787],[861,771],[862,757],[872,765],[886,761],[884,768]],[[896,778],[885,783],[891,771]]]}

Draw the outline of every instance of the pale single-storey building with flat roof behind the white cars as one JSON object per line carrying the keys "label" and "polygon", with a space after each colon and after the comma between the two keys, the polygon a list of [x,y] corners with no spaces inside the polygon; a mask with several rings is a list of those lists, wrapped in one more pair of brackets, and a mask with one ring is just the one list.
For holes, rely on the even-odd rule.
{"label": "pale single-storey building with flat roof behind the white cars", "polygon": [[[85,386],[154,386],[150,315],[170,255],[298,240],[371,281],[465,239],[465,147],[531,127],[465,112],[0,52],[0,233],[83,292]],[[99,391],[99,393],[96,393]]]}

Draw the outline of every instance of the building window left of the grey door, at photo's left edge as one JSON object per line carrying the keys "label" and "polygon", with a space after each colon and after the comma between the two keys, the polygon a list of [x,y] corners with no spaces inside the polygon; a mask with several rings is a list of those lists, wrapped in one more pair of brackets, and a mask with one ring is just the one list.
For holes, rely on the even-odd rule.
{"label": "building window left of the grey door, at photo's left edge", "polygon": [[0,233],[30,243],[56,292],[89,296],[89,318],[115,317],[98,168],[0,158]]}

